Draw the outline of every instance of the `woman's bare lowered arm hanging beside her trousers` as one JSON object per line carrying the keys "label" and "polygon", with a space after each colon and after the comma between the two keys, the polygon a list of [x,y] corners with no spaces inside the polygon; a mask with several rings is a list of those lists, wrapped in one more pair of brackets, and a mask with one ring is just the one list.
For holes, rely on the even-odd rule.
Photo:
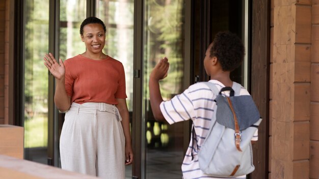
{"label": "woman's bare lowered arm hanging beside her trousers", "polygon": [[120,115],[122,117],[122,127],[124,131],[125,136],[125,165],[129,165],[133,162],[134,155],[132,150],[132,141],[130,137],[130,130],[129,130],[129,114],[128,109],[126,105],[125,99],[116,99],[118,104],[116,105],[117,109],[120,112]]}

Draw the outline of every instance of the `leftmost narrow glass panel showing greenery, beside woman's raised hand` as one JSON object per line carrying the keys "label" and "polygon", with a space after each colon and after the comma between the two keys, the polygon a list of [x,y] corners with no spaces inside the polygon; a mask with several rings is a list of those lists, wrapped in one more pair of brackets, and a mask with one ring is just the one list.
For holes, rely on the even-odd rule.
{"label": "leftmost narrow glass panel showing greenery, beside woman's raised hand", "polygon": [[27,0],[24,6],[24,154],[25,159],[47,164],[48,0]]}

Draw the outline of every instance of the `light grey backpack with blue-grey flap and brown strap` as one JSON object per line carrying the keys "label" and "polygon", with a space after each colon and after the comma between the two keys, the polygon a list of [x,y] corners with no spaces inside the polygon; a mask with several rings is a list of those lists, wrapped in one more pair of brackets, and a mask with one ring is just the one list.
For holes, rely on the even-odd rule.
{"label": "light grey backpack with blue-grey flap and brown strap", "polygon": [[[255,169],[251,139],[262,120],[252,97],[239,96],[242,85],[236,82],[220,91],[213,83],[203,83],[217,96],[217,105],[207,137],[198,149],[200,169],[216,177],[251,173]],[[223,96],[224,91],[230,91],[230,97]],[[193,141],[194,133],[193,126]]]}

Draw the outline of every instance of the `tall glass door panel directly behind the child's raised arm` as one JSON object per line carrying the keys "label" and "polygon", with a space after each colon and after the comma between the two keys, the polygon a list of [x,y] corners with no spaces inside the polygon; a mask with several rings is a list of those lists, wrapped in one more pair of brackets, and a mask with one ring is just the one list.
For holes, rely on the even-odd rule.
{"label": "tall glass door panel directly behind the child's raised arm", "polygon": [[[144,139],[146,141],[143,178],[181,178],[183,123],[156,122],[149,104],[148,78],[159,59],[167,56],[168,77],[162,80],[164,100],[182,92],[183,4],[178,0],[146,0],[144,32]],[[166,172],[163,172],[166,171]],[[142,172],[143,173],[143,172]]]}

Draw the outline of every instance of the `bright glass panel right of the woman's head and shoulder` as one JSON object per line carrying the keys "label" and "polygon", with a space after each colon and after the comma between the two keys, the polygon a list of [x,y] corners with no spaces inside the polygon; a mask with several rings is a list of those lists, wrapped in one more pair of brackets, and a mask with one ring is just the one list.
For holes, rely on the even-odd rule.
{"label": "bright glass panel right of the woman's head and shoulder", "polygon": [[[134,0],[97,0],[96,16],[107,27],[103,52],[120,61],[125,70],[127,107],[132,121]],[[130,123],[131,125],[131,123]],[[132,165],[125,168],[126,178],[132,178]]]}

